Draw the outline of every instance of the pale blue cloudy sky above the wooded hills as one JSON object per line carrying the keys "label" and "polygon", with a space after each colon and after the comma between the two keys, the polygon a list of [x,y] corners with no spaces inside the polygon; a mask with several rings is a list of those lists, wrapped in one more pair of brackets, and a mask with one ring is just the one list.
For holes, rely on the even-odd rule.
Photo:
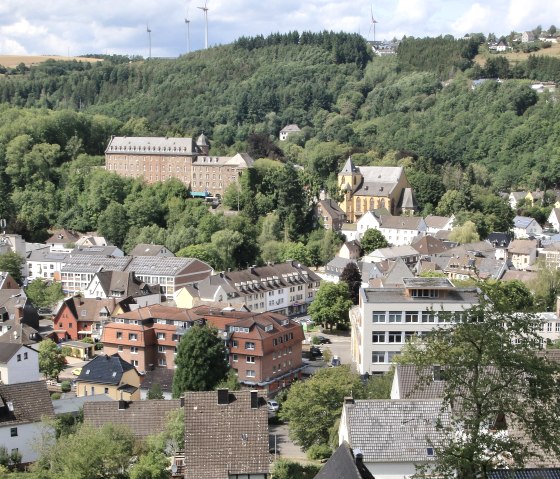
{"label": "pale blue cloudy sky above the wooded hills", "polygon": [[[204,48],[204,0],[1,0],[0,55],[177,57]],[[207,0],[209,46],[275,32],[373,40],[560,28],[560,0]],[[185,23],[188,19],[190,23]],[[148,34],[147,26],[151,30]],[[188,35],[190,31],[190,35]]]}

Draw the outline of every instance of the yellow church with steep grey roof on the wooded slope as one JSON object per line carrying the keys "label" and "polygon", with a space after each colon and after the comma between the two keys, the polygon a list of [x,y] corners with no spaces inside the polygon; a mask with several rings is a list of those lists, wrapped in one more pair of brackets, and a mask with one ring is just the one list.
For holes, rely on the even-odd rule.
{"label": "yellow church with steep grey roof on the wooded slope", "polygon": [[344,195],[340,208],[352,223],[375,208],[387,208],[393,215],[417,209],[412,187],[402,167],[357,167],[352,158],[348,158],[338,174],[338,185]]}

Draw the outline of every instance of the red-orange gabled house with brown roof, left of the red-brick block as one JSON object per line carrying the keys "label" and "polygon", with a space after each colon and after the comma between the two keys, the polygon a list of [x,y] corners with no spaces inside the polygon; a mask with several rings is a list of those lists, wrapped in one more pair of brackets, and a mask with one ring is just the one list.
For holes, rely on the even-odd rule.
{"label": "red-orange gabled house with brown roof, left of the red-brick block", "polygon": [[58,341],[77,341],[85,337],[100,339],[103,323],[109,321],[116,304],[115,298],[73,296],[64,300],[53,319]]}

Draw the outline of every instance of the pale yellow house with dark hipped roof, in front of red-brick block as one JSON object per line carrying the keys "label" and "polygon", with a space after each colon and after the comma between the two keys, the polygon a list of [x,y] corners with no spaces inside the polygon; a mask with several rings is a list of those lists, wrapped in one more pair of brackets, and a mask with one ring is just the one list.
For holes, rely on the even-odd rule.
{"label": "pale yellow house with dark hipped roof, in front of red-brick block", "polygon": [[76,378],[77,396],[95,394],[106,394],[115,400],[139,400],[140,375],[118,354],[96,356],[82,367]]}

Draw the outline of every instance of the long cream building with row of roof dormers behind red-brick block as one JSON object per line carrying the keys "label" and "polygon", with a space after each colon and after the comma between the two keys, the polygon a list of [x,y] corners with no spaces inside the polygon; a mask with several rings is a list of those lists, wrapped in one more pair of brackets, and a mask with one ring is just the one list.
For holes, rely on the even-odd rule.
{"label": "long cream building with row of roof dormers behind red-brick block", "polygon": [[305,313],[321,278],[297,261],[251,266],[212,275],[197,285],[199,298],[209,303],[234,301],[250,311],[292,315]]}

